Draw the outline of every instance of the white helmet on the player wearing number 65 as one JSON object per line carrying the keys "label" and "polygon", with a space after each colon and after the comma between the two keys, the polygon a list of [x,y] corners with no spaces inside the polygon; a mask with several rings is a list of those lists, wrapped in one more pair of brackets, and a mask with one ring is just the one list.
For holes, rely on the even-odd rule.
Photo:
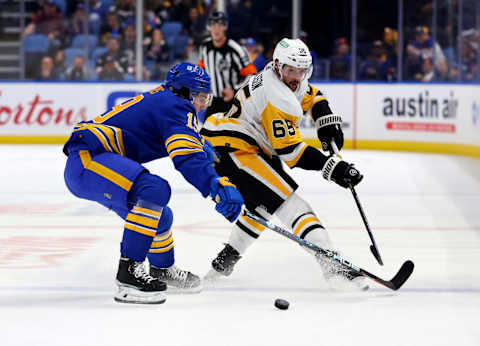
{"label": "white helmet on the player wearing number 65", "polygon": [[283,65],[305,69],[304,79],[312,76],[312,55],[307,45],[300,39],[283,38],[275,46],[273,62],[278,61],[278,69],[281,74]]}

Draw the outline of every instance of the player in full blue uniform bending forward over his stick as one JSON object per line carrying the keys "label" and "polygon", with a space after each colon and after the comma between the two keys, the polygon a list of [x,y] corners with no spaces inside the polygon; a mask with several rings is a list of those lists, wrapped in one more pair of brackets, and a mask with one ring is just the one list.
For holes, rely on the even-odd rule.
{"label": "player in full blue uniform bending forward over his stick", "polygon": [[208,74],[180,63],[165,84],[78,123],[64,146],[68,189],[125,220],[116,301],[158,304],[166,299],[167,285],[201,289],[198,276],[174,265],[170,186],[142,163],[170,156],[189,183],[216,199],[220,214],[230,222],[240,214],[241,194],[212,168],[213,149],[198,133],[196,114],[210,99]]}

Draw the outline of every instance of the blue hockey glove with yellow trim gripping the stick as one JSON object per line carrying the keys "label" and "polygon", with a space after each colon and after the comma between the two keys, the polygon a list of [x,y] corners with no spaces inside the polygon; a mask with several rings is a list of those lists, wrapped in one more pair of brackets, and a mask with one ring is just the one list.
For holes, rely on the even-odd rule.
{"label": "blue hockey glove with yellow trim gripping the stick", "polygon": [[214,178],[210,182],[210,196],[217,205],[215,210],[234,222],[242,211],[243,197],[227,177]]}

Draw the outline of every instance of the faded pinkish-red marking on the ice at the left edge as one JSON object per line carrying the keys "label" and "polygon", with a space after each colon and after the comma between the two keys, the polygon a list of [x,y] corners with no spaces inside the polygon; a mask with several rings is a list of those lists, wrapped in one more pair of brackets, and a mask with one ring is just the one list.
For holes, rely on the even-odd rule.
{"label": "faded pinkish-red marking on the ice at the left edge", "polygon": [[56,267],[85,251],[100,238],[31,237],[0,238],[0,269]]}

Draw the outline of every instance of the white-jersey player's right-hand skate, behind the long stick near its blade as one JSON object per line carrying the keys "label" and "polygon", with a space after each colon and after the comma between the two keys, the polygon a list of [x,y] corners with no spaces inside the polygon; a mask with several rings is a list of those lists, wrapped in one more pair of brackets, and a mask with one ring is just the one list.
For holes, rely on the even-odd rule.
{"label": "white-jersey player's right-hand skate, behind the long stick near its blade", "polygon": [[[334,254],[337,254],[334,252]],[[356,271],[344,268],[331,257],[315,254],[315,259],[320,264],[323,276],[328,286],[335,291],[366,291],[369,286],[365,277]]]}

